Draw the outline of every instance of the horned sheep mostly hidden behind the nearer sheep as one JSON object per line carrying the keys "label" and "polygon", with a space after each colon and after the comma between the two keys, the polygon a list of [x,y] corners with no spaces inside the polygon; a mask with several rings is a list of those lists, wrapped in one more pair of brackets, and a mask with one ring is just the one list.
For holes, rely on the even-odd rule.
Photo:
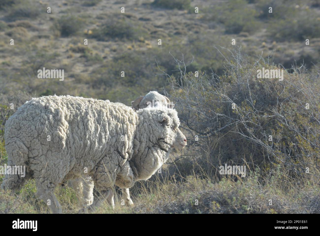
{"label": "horned sheep mostly hidden behind the nearer sheep", "polygon": [[[139,110],[145,107],[161,107],[166,106],[170,108],[174,108],[174,104],[172,104],[169,98],[164,95],[159,94],[156,91],[150,91],[145,96],[137,97],[134,101],[131,102],[132,108],[135,110]],[[71,186],[77,192],[78,199],[80,200],[80,204],[84,207],[87,207],[92,204],[93,200],[93,181],[88,178],[83,181],[75,179],[71,181]],[[83,190],[82,190],[83,189]],[[122,197],[124,198],[124,202],[127,206],[132,206],[133,202],[130,198],[129,189],[122,190]]]}

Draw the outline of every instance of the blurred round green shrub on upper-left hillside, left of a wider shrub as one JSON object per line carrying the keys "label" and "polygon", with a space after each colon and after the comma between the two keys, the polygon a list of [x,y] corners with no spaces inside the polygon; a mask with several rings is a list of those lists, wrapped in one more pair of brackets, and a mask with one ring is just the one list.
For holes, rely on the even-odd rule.
{"label": "blurred round green shrub on upper-left hillside, left of a wider shrub", "polygon": [[75,15],[64,15],[53,24],[53,28],[60,32],[61,36],[75,35],[83,29],[85,21]]}

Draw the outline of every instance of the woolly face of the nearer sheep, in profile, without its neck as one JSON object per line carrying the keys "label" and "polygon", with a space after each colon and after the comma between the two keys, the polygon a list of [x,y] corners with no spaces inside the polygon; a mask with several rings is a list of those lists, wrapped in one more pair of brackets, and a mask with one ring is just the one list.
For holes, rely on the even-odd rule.
{"label": "woolly face of the nearer sheep, in profile, without its neck", "polygon": [[143,115],[143,126],[148,129],[147,136],[153,147],[169,152],[171,148],[182,149],[187,145],[187,139],[179,129],[177,111],[168,108],[145,108],[138,113]]}

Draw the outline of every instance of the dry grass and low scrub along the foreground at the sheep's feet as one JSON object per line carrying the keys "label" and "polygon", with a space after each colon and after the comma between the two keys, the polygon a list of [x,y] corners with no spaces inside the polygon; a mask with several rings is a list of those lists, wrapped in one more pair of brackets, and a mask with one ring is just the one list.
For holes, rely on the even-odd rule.
{"label": "dry grass and low scrub along the foreground at the sheep's feet", "polygon": [[[319,185],[288,188],[281,178],[280,172],[268,179],[255,172],[239,181],[227,176],[213,182],[194,175],[163,179],[160,174],[131,190],[133,207],[122,205],[119,190],[114,190],[115,209],[104,204],[96,213],[320,213]],[[1,191],[0,213],[49,213],[45,203],[36,199],[35,191],[34,181],[28,181],[16,197]],[[56,196],[63,213],[77,213],[79,206],[71,188],[58,187]]]}

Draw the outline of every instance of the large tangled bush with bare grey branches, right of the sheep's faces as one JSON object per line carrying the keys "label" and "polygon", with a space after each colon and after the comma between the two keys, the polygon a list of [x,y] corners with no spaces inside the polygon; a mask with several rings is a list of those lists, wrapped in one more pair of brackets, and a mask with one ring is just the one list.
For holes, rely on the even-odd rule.
{"label": "large tangled bush with bare grey branches, right of the sheep's faces", "polygon": [[179,170],[212,176],[221,164],[233,163],[262,169],[265,175],[280,168],[283,180],[298,184],[319,180],[318,74],[293,66],[293,73],[284,70],[283,81],[257,79],[262,67],[284,68],[261,57],[250,63],[241,48],[229,52],[221,77],[186,73],[183,55],[173,57],[178,78],[163,73],[188,133],[188,150],[176,157]]}

